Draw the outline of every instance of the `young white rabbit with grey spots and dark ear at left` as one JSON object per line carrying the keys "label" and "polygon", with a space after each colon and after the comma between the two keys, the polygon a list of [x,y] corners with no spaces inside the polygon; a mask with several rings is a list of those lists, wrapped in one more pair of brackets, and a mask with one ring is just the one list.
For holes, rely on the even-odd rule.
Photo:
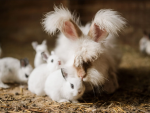
{"label": "young white rabbit with grey spots and dark ear at left", "polygon": [[27,83],[32,71],[32,66],[28,59],[18,59],[6,57],[0,59],[0,87],[9,88],[4,83]]}

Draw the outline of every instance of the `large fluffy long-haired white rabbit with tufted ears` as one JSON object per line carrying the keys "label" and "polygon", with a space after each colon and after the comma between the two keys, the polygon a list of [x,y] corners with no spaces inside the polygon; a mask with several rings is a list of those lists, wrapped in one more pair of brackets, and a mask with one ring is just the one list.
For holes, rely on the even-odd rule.
{"label": "large fluffy long-haired white rabbit with tufted ears", "polygon": [[[54,34],[57,29],[61,31],[56,54],[64,63],[74,55],[72,66],[77,76],[93,86],[104,86],[108,93],[118,88],[116,71],[120,54],[115,40],[125,24],[125,19],[111,9],[99,10],[91,25],[86,26],[79,25],[79,18],[64,7],[55,7],[43,19],[46,32]],[[86,90],[91,89],[92,86],[86,87]]]}

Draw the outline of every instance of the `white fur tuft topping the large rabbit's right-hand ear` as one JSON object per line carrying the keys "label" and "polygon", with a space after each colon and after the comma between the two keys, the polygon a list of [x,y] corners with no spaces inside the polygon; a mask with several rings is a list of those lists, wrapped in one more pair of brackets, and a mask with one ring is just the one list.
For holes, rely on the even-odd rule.
{"label": "white fur tuft topping the large rabbit's right-hand ear", "polygon": [[97,24],[100,29],[106,30],[114,35],[118,34],[126,24],[125,19],[117,11],[111,9],[99,10],[94,18],[93,23]]}

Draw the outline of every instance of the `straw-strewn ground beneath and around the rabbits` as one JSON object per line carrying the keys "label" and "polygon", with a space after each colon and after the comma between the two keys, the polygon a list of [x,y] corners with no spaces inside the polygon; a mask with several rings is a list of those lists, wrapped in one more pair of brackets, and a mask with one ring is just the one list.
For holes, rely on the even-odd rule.
{"label": "straw-strewn ground beneath and around the rabbits", "polygon": [[[2,40],[1,43],[2,57],[27,57],[33,65],[35,51],[30,42],[18,44]],[[57,103],[47,96],[32,94],[26,85],[15,84],[9,89],[0,89],[0,112],[150,112],[150,56],[140,54],[129,45],[121,45],[121,49],[120,88],[114,94],[91,92],[83,96],[81,103]]]}

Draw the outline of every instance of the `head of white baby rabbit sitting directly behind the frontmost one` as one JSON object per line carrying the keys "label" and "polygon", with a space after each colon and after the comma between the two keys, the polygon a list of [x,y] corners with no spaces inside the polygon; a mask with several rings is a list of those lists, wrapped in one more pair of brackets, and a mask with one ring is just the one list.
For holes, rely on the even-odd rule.
{"label": "head of white baby rabbit sitting directly behind the frontmost one", "polygon": [[46,53],[42,53],[42,58],[47,62],[47,65],[51,69],[59,69],[59,67],[62,65],[62,61],[60,58],[55,55],[55,53],[52,51],[51,55],[47,55]]}

